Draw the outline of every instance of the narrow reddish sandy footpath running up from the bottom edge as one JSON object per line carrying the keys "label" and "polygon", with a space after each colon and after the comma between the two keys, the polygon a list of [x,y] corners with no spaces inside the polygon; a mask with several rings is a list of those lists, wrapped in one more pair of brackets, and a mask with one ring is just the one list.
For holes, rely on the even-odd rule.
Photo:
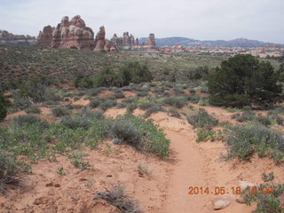
{"label": "narrow reddish sandy footpath running up from the bottom edge", "polygon": [[[168,185],[168,195],[162,212],[209,212],[205,195],[189,195],[188,187],[206,185],[204,160],[192,146],[193,134],[183,135],[177,131],[165,130],[170,139],[170,150],[175,159]],[[193,133],[193,130],[192,130]]]}

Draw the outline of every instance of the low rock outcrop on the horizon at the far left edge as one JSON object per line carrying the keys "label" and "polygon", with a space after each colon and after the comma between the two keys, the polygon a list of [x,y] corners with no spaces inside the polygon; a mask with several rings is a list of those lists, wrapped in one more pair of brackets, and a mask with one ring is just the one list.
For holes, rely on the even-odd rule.
{"label": "low rock outcrop on the horizon at the far left edge", "polygon": [[6,30],[0,30],[0,44],[18,45],[18,44],[35,44],[35,36],[13,35]]}

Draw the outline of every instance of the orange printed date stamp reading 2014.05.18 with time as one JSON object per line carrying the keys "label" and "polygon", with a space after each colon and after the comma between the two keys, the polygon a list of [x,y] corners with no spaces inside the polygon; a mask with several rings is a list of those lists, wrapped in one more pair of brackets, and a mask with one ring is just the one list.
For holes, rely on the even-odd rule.
{"label": "orange printed date stamp reading 2014.05.18 with time", "polygon": [[[263,186],[262,188],[258,188],[256,186],[248,186],[248,193],[249,194],[256,194],[256,193],[272,193],[273,188],[271,186]],[[232,186],[231,188],[226,188],[225,186],[189,186],[188,187],[188,194],[241,194],[241,187],[240,186]]]}

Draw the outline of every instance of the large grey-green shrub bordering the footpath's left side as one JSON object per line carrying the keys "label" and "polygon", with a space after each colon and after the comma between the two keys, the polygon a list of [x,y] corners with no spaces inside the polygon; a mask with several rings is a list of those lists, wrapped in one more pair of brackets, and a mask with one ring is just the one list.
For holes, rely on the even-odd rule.
{"label": "large grey-green shrub bordering the footpath's left side", "polygon": [[114,120],[110,134],[115,141],[126,142],[139,150],[168,156],[170,140],[151,120],[144,120],[132,114],[125,114]]}

